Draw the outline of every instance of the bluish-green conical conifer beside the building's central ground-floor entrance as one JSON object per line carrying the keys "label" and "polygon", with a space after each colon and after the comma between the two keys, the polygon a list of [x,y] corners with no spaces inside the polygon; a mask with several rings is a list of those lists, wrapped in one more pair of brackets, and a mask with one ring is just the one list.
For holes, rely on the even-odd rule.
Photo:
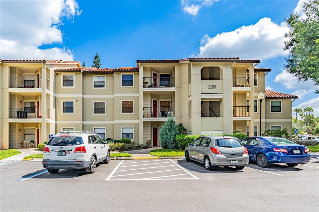
{"label": "bluish-green conical conifer beside the building's central ground-floor entrance", "polygon": [[178,134],[173,117],[168,117],[159,131],[159,140],[163,149],[175,149],[175,136]]}

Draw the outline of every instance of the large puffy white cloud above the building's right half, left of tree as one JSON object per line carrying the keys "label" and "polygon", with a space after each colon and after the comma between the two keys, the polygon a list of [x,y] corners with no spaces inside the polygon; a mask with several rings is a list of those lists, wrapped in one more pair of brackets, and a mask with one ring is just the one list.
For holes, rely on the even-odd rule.
{"label": "large puffy white cloud above the building's right half, left of tree", "polygon": [[204,35],[197,56],[265,59],[286,55],[283,42],[288,30],[284,22],[278,25],[270,18],[262,18],[254,25],[241,26],[232,32],[222,32],[214,37]]}

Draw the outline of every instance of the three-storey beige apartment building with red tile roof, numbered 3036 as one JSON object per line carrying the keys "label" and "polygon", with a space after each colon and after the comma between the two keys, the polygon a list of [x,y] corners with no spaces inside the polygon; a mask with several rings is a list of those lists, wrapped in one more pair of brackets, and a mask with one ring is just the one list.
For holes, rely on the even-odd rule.
{"label": "three-storey beige apartment building with red tile roof, numbered 3036", "polygon": [[112,69],[63,60],[0,62],[1,149],[36,146],[61,130],[159,146],[168,116],[193,135],[256,136],[260,127],[290,132],[291,102],[298,98],[265,90],[271,70],[256,68],[259,60],[137,60],[137,67]]}

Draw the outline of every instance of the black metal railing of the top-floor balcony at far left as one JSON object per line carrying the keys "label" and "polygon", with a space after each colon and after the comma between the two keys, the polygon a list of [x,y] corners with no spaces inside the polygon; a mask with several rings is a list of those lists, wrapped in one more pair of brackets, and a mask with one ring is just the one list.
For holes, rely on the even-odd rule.
{"label": "black metal railing of the top-floor balcony at far left", "polygon": [[10,77],[10,88],[41,88],[41,77]]}

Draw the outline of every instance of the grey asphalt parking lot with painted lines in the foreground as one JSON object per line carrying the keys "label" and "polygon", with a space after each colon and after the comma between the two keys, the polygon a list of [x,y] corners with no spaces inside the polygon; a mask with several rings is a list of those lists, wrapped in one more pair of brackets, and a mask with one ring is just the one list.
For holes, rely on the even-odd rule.
{"label": "grey asphalt parking lot with painted lines in the foreground", "polygon": [[318,211],[319,159],[207,171],[183,159],[112,160],[95,173],[49,174],[0,161],[1,211]]}

